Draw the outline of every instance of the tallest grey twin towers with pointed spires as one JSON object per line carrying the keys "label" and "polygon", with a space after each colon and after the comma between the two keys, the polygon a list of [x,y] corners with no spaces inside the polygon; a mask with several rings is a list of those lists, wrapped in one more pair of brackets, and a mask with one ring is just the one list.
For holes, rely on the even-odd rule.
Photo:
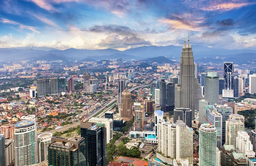
{"label": "tallest grey twin towers with pointed spires", "polygon": [[191,45],[184,45],[180,56],[180,80],[175,84],[175,107],[190,108],[195,118],[195,65]]}

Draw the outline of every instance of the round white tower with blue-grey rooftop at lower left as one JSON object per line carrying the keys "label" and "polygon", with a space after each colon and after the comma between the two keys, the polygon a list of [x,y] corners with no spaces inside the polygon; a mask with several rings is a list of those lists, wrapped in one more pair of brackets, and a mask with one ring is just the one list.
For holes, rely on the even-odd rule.
{"label": "round white tower with blue-grey rooftop at lower left", "polygon": [[37,128],[34,122],[21,121],[15,124],[15,166],[29,166],[38,163],[37,138]]}

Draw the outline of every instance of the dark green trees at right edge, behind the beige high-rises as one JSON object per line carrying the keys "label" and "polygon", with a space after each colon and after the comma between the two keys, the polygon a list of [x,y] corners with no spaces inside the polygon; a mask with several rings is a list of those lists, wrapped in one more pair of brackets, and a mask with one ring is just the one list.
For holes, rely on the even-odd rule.
{"label": "dark green trees at right edge, behind the beige high-rises", "polygon": [[254,129],[254,127],[255,127],[254,117],[256,116],[256,110],[238,111],[238,114],[244,116],[244,118],[245,118],[244,127],[245,128]]}

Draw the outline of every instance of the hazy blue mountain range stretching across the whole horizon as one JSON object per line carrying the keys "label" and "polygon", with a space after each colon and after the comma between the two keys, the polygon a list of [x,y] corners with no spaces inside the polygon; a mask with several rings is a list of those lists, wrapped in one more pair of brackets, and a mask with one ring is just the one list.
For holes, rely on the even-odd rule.
{"label": "hazy blue mountain range stretching across the whole horizon", "polygon": [[[40,48],[40,47],[22,47],[22,48],[0,48],[0,62],[3,61],[20,61],[31,60],[41,55],[61,55],[65,56],[68,60],[83,60],[90,58],[93,60],[103,59],[116,59],[123,58],[124,60],[135,59],[147,59],[157,56],[165,56],[169,59],[180,59],[182,47],[180,46],[143,46],[138,48],[130,48],[125,51],[119,51],[115,49],[102,49],[102,50],[86,50],[69,48],[66,50],[58,50],[54,48]],[[215,56],[231,57],[234,55],[242,55],[243,53],[256,53],[255,48],[243,49],[243,50],[227,50],[208,48],[201,45],[192,45],[192,51],[195,59],[202,58],[215,58]],[[239,56],[237,56],[239,58]],[[61,59],[60,59],[61,60]]]}

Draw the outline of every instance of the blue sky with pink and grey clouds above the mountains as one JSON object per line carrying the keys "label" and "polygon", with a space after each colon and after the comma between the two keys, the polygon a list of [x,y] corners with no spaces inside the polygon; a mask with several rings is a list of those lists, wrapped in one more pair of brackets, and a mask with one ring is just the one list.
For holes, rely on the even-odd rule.
{"label": "blue sky with pink and grey clouds above the mountains", "polygon": [[256,48],[256,0],[2,0],[0,48]]}

